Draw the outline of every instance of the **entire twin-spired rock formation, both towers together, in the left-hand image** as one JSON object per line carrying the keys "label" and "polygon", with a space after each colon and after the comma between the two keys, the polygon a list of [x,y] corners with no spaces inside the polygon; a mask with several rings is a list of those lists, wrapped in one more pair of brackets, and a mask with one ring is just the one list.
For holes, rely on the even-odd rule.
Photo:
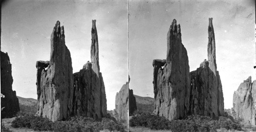
{"label": "entire twin-spired rock formation, both towers together, in the left-hand image", "polygon": [[101,120],[106,116],[106,95],[99,69],[96,20],[92,21],[91,61],[73,74],[70,51],[65,45],[64,27],[57,21],[51,35],[50,61],[37,61],[36,115],[52,121],[71,115]]}

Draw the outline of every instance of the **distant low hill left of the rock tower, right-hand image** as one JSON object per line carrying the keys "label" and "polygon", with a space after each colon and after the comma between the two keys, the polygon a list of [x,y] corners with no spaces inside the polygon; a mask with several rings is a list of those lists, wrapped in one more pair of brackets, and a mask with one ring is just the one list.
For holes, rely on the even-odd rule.
{"label": "distant low hill left of the rock tower, right-hand image", "polygon": [[141,97],[134,95],[136,98],[136,104],[138,111],[153,112],[154,111],[154,98]]}

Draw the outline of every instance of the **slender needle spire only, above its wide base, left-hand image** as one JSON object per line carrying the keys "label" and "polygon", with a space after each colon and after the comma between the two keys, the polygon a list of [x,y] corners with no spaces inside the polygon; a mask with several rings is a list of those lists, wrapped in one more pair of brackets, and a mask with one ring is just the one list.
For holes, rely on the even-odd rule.
{"label": "slender needle spire only, above its wide base, left-hand image", "polygon": [[99,44],[98,44],[98,34],[96,29],[96,20],[92,20],[92,44],[91,44],[91,61],[92,69],[99,76]]}

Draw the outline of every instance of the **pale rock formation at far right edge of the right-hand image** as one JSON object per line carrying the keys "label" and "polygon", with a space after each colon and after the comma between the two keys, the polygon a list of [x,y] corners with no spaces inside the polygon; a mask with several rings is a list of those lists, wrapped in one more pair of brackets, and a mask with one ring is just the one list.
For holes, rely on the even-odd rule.
{"label": "pale rock formation at far right edge of the right-hand image", "polygon": [[256,81],[251,82],[251,76],[241,83],[233,94],[233,110],[236,119],[245,124],[255,124]]}

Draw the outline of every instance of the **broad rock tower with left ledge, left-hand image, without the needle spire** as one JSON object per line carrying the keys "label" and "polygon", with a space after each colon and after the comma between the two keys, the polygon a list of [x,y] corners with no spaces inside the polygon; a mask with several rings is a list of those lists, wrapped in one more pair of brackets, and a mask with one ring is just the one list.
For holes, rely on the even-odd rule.
{"label": "broad rock tower with left ledge, left-hand image, without the needle spire", "polygon": [[51,35],[50,62],[38,61],[36,115],[52,121],[67,119],[73,110],[73,68],[65,45],[64,27],[57,21]]}

